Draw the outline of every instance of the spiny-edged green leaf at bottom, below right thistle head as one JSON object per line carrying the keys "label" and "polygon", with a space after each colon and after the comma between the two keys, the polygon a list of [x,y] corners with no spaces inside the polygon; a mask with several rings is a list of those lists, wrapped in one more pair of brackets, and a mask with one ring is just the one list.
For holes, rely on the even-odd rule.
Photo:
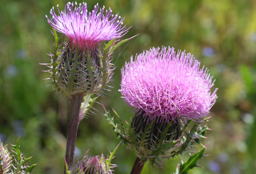
{"label": "spiny-edged green leaf at bottom, below right thistle head", "polygon": [[205,148],[201,149],[198,153],[192,155],[187,162],[181,162],[179,170],[176,170],[175,174],[187,174],[189,170],[194,167],[199,167],[197,162],[203,156]]}

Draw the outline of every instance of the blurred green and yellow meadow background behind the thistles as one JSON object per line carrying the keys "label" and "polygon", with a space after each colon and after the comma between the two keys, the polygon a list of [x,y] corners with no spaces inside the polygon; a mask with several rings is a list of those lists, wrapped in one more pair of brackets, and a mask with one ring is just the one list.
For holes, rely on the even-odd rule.
{"label": "blurred green and yellow meadow background behind the thistles", "polygon": [[[60,10],[68,1],[1,0],[0,2],[0,137],[15,143],[21,137],[21,151],[39,163],[34,174],[63,173],[69,101],[45,87],[50,77],[44,65],[54,51],[53,35],[45,15],[52,6]],[[77,1],[78,4],[82,1]],[[88,11],[96,3],[111,7],[125,16],[132,26],[123,39],[132,41],[114,54],[116,69],[109,83],[111,91],[98,98],[107,109],[113,107],[122,120],[133,115],[122,101],[120,69],[132,55],[150,47],[171,46],[186,50],[205,65],[216,79],[218,99],[211,109],[205,154],[199,161],[204,168],[190,174],[256,173],[256,1],[253,0],[99,0],[86,1]],[[55,8],[56,9],[56,8]],[[59,35],[60,36],[60,35]],[[110,89],[110,88],[109,88]],[[50,91],[50,92],[49,92]],[[79,125],[77,157],[105,156],[120,139],[95,103],[96,115]],[[121,145],[113,163],[116,174],[129,174],[136,157]],[[147,167],[143,174],[170,174],[179,159],[163,160],[165,169]]]}

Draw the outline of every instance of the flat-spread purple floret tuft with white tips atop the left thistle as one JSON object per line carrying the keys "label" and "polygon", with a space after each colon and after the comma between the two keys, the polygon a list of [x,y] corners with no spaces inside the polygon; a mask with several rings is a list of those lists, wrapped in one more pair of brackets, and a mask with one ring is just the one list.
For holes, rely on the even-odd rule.
{"label": "flat-spread purple floret tuft with white tips atop the left thistle", "polygon": [[99,10],[97,4],[89,14],[85,2],[79,6],[75,2],[73,8],[74,4],[68,2],[64,11],[58,8],[59,15],[56,15],[53,7],[50,11],[52,18],[46,18],[56,31],[68,36],[70,44],[78,45],[80,49],[97,47],[101,41],[117,39],[128,32],[126,25],[122,27],[124,18],[111,14],[110,8],[104,12],[105,6]]}

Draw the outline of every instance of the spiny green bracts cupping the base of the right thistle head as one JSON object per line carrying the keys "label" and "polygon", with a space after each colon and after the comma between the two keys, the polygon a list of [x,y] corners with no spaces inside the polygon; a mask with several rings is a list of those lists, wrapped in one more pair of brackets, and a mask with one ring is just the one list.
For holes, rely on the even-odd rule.
{"label": "spiny green bracts cupping the base of the right thistle head", "polygon": [[[191,125],[191,120],[188,120],[187,123],[181,121],[179,139],[175,140],[175,134],[173,134],[168,138],[168,140],[166,137],[169,136],[168,130],[169,127],[172,126],[170,123],[163,131],[159,130],[159,138],[156,137],[156,140],[150,141],[149,139],[151,136],[148,135],[151,134],[155,120],[148,124],[143,133],[138,134],[127,121],[126,124],[128,128],[124,128],[119,115],[114,110],[113,112],[115,116],[120,121],[120,126],[115,123],[114,116],[111,117],[110,113],[105,108],[104,110],[109,124],[113,126],[113,130],[117,133],[117,137],[122,138],[122,141],[127,144],[129,148],[134,149],[136,151],[136,156],[138,156],[143,162],[149,161],[149,164],[151,165],[161,165],[162,162],[160,157],[169,159],[170,157],[174,158],[175,156],[184,154],[184,152],[193,148],[192,145],[194,143],[199,143],[203,146],[201,139],[205,138],[205,132],[210,130],[207,126],[200,126],[201,123],[206,122],[210,117],[201,122],[194,122],[191,128],[188,126]],[[148,142],[152,142],[152,144],[149,145]]]}

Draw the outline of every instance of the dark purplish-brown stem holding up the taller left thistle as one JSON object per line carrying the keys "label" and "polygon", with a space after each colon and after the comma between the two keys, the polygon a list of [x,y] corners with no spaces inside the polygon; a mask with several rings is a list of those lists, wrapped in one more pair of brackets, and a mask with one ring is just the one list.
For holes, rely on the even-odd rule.
{"label": "dark purplish-brown stem holding up the taller left thistle", "polygon": [[[83,93],[76,93],[70,98],[70,117],[68,123],[68,137],[65,156],[65,160],[69,167],[74,164],[77,129],[79,125],[79,111],[83,98]],[[64,168],[64,174],[66,174],[66,167]]]}

